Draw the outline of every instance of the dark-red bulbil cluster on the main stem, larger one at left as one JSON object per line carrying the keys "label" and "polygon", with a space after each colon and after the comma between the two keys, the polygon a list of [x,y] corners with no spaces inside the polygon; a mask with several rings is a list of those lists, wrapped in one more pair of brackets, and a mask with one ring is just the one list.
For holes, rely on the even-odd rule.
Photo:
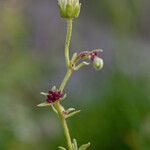
{"label": "dark-red bulbil cluster on the main stem, larger one at left", "polygon": [[51,90],[48,92],[46,101],[48,103],[54,103],[55,101],[59,100],[62,97],[63,97],[63,93],[61,91],[58,91],[58,90],[52,91]]}

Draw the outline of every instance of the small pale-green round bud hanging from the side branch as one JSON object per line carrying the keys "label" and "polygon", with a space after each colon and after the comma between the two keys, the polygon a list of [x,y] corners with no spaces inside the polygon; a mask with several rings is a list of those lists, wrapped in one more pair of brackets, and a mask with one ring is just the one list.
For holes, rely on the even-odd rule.
{"label": "small pale-green round bud hanging from the side branch", "polygon": [[96,70],[101,70],[103,68],[103,65],[104,65],[103,59],[96,56],[93,60],[93,67]]}

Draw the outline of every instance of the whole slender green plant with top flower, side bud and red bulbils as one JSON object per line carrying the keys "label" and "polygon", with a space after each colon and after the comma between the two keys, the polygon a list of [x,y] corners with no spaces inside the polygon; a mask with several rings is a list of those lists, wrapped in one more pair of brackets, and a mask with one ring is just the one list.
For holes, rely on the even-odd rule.
{"label": "whole slender green plant with top flower, side bud and red bulbils", "polygon": [[58,7],[61,17],[67,21],[67,35],[64,50],[67,71],[59,88],[53,86],[48,91],[48,93],[41,92],[41,94],[44,95],[46,98],[45,102],[39,104],[38,106],[51,106],[60,119],[66,138],[67,148],[59,147],[59,149],[86,150],[90,146],[90,143],[78,147],[76,139],[71,139],[66,121],[68,118],[79,113],[80,110],[75,110],[74,108],[65,109],[62,104],[60,104],[60,102],[66,98],[66,94],[64,94],[63,91],[73,72],[78,71],[84,66],[90,65],[90,63],[92,63],[93,67],[96,70],[100,70],[103,68],[103,60],[98,57],[98,52],[102,52],[102,50],[95,49],[91,51],[82,51],[79,54],[74,53],[70,59],[69,45],[72,35],[72,22],[73,19],[79,16],[81,4],[79,3],[79,0],[58,0]]}

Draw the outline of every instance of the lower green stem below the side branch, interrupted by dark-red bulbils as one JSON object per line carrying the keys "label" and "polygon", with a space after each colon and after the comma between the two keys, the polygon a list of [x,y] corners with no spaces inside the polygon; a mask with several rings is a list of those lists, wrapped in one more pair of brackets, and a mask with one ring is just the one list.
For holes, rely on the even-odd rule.
{"label": "lower green stem below the side branch, interrupted by dark-red bulbils", "polygon": [[[66,84],[67,84],[67,81],[69,80],[70,76],[72,74],[72,69],[68,69],[67,70],[67,73],[60,85],[60,88],[59,90],[60,91],[63,91]],[[67,122],[66,122],[66,119],[63,115],[63,112],[61,111],[61,105],[59,103],[59,101],[55,104],[55,108],[58,112],[58,115],[59,115],[59,118],[60,118],[60,121],[61,121],[61,124],[63,126],[63,129],[64,129],[64,133],[65,133],[65,138],[66,138],[66,141],[67,141],[67,145],[68,145],[68,150],[72,150],[72,142],[71,142],[71,137],[70,137],[70,133],[69,133],[69,129],[68,129],[68,126],[67,126]]]}

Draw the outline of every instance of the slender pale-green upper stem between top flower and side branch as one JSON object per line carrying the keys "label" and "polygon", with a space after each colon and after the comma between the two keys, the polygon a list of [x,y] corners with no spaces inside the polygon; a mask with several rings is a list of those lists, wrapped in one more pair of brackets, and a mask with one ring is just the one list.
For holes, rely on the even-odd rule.
{"label": "slender pale-green upper stem between top flower and side branch", "polygon": [[66,35],[66,44],[65,44],[65,58],[66,58],[66,66],[69,67],[70,59],[69,59],[69,45],[72,35],[72,19],[67,20],[67,35]]}

